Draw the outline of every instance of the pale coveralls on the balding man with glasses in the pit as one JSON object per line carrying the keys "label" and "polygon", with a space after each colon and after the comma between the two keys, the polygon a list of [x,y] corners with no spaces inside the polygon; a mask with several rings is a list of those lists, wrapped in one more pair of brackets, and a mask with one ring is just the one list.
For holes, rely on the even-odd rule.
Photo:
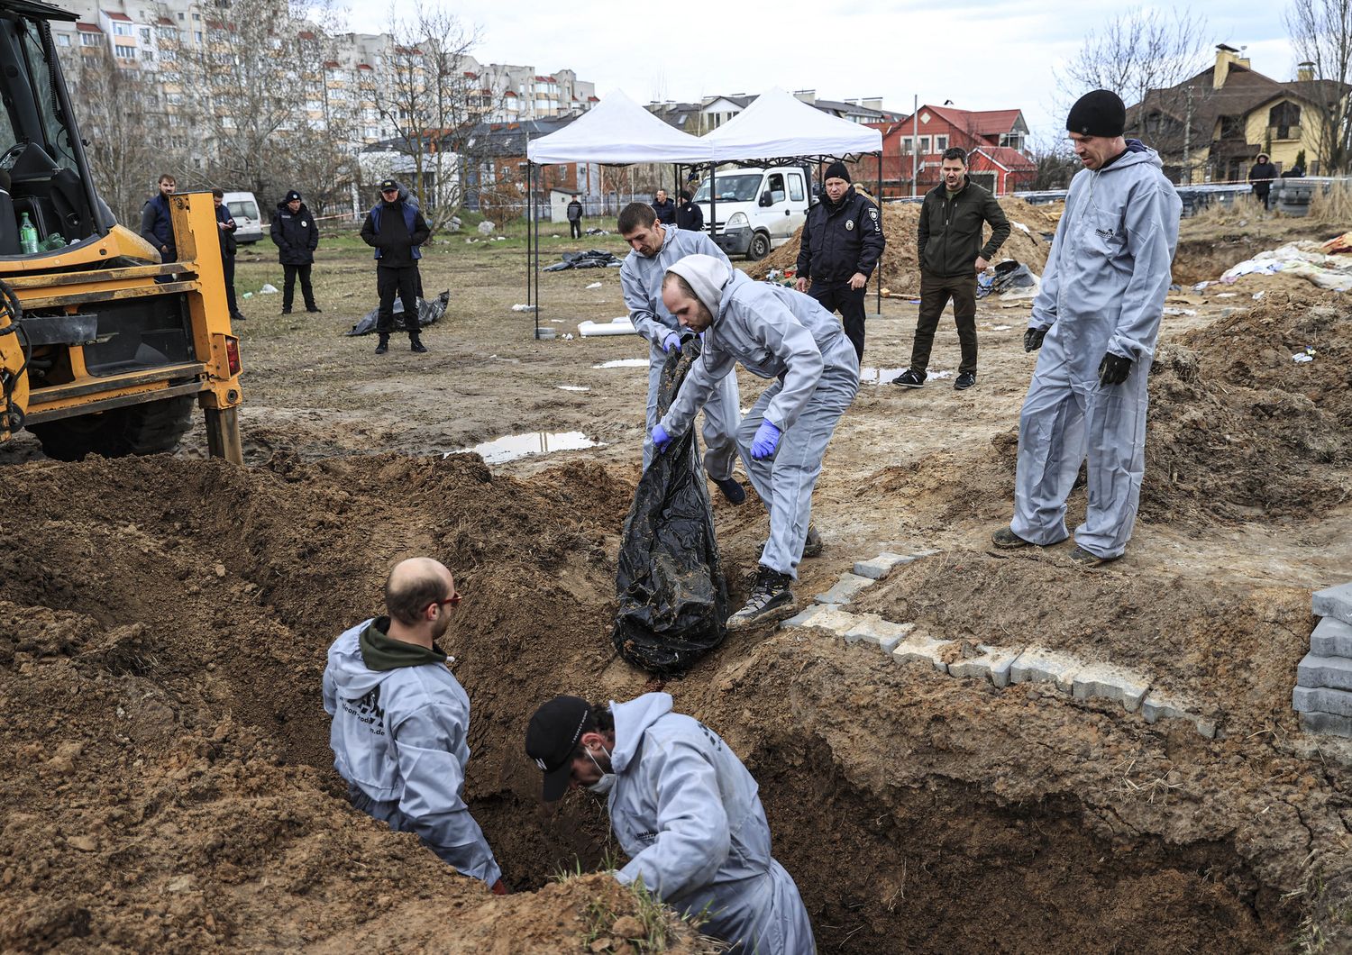
{"label": "pale coveralls on the balding man with glasses in the pit", "polygon": [[329,746],[347,798],[492,886],[502,871],[464,797],[469,697],[441,662],[369,669],[358,642],[372,623],[339,636],[324,669]]}

